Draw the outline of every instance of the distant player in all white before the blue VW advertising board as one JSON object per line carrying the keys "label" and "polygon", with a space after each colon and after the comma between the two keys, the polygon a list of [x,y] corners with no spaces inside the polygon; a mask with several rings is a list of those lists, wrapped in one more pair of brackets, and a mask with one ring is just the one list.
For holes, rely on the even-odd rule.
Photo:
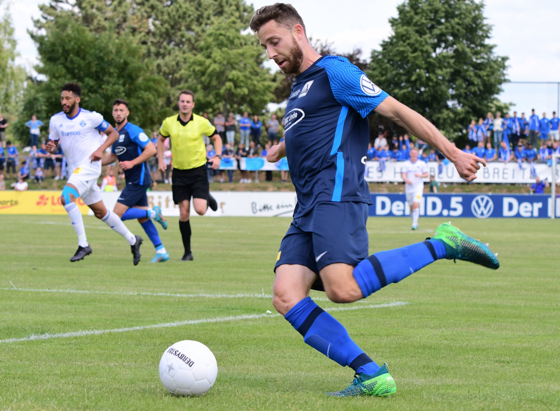
{"label": "distant player in all white before the blue VW advertising board", "polygon": [[422,160],[418,160],[418,148],[410,148],[410,160],[403,163],[401,169],[407,195],[407,202],[412,215],[412,230],[418,230],[418,216],[420,214],[420,202],[424,192],[424,178],[428,176],[428,166]]}

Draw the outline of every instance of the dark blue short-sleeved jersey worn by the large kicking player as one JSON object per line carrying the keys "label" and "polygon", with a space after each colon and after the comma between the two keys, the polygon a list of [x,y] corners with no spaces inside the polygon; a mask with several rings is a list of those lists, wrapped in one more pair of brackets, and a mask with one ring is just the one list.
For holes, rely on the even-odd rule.
{"label": "dark blue short-sleeved jersey worn by the large kicking player", "polygon": [[296,77],[284,115],[295,218],[320,201],[371,204],[366,116],[387,96],[343,57],[325,55]]}

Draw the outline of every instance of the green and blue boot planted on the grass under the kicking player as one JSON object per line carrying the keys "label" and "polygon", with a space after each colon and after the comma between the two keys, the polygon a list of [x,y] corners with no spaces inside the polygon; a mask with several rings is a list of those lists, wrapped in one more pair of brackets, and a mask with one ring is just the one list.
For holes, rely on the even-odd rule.
{"label": "green and blue boot planted on the grass under the kicking player", "polygon": [[348,387],[335,393],[326,393],[326,395],[335,397],[390,396],[395,393],[395,380],[389,374],[385,363],[374,375],[356,374],[354,381]]}

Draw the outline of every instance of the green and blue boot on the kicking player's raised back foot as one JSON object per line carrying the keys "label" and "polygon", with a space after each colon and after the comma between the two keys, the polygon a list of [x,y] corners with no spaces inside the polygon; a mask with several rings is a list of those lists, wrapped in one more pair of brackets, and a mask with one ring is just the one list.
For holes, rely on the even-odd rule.
{"label": "green and blue boot on the kicking player's raised back foot", "polygon": [[479,240],[469,237],[451,223],[440,224],[436,228],[433,240],[439,240],[444,244],[448,260],[470,261],[494,270],[500,268],[498,254],[492,253],[488,244],[482,244]]}

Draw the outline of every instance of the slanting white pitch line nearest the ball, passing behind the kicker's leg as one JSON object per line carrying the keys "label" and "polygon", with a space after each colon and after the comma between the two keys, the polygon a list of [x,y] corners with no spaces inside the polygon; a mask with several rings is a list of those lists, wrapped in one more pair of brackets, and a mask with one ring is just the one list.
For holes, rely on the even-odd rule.
{"label": "slanting white pitch line nearest the ball, passing behind the kicker's leg", "polygon": [[[397,306],[402,306],[407,304],[408,302],[393,301],[384,304],[359,305],[359,306],[354,305],[350,307],[331,307],[331,308],[326,308],[325,311],[352,311],[352,310],[362,310],[362,309],[378,309],[378,308],[385,308],[385,307],[397,307]],[[50,338],[69,338],[69,337],[84,337],[85,335],[125,333],[127,331],[148,330],[153,328],[179,327],[181,325],[225,323],[226,321],[253,320],[258,318],[271,318],[271,317],[279,317],[279,316],[281,316],[281,314],[245,314],[245,315],[235,315],[229,317],[202,318],[199,320],[174,321],[173,323],[138,325],[135,327],[113,328],[108,330],[71,331],[69,333],[58,333],[58,334],[49,334],[49,333],[31,334],[28,337],[23,337],[23,338],[7,338],[4,340],[0,340],[0,344],[16,343],[22,341],[33,341],[33,340],[46,340]]]}

